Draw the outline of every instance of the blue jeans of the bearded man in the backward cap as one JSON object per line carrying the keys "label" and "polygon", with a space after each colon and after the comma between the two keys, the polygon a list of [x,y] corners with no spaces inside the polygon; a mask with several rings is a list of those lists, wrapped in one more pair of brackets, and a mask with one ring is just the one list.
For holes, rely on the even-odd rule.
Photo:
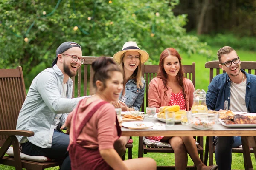
{"label": "blue jeans of the bearded man in the backward cap", "polygon": [[68,155],[67,147],[69,145],[69,135],[54,130],[52,136],[52,147],[41,148],[31,142],[21,144],[22,153],[31,156],[45,156],[51,159],[64,160],[61,170],[71,170],[70,157]]}

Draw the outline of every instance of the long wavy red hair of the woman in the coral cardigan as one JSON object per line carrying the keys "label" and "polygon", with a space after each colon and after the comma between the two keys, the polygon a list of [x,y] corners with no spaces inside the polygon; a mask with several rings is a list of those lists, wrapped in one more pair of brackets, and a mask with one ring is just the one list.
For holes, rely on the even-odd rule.
{"label": "long wavy red hair of the woman in the coral cardigan", "polygon": [[160,54],[159,71],[157,73],[157,77],[163,80],[163,84],[165,86],[164,93],[166,94],[166,91],[168,90],[168,88],[167,88],[167,77],[168,77],[168,74],[166,73],[166,71],[163,68],[163,64],[164,64],[163,61],[168,56],[175,56],[175,57],[177,57],[179,59],[180,70],[179,70],[178,74],[176,75],[176,78],[178,80],[179,85],[182,88],[182,93],[183,93],[184,99],[186,100],[186,91],[185,91],[185,86],[184,86],[184,82],[183,82],[184,71],[183,71],[182,64],[181,64],[181,57],[180,57],[180,54],[178,53],[178,51],[175,50],[174,48],[166,48]]}

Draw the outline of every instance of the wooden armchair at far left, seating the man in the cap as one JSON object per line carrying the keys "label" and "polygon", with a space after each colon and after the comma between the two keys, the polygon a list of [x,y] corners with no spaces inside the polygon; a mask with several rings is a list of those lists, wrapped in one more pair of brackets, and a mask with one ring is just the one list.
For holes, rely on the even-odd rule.
{"label": "wooden armchair at far left, seating the man in the cap", "polygon": [[[14,166],[16,170],[44,170],[61,165],[60,162],[39,163],[20,159],[18,136],[30,137],[34,132],[15,130],[21,106],[26,98],[22,68],[0,69],[0,164]],[[14,157],[4,156],[10,145]]]}

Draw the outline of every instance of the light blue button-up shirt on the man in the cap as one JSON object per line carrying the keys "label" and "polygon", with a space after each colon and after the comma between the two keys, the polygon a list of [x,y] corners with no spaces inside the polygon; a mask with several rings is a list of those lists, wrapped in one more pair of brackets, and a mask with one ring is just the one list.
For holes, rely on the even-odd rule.
{"label": "light blue button-up shirt on the man in the cap", "polygon": [[52,147],[52,136],[56,122],[57,128],[64,124],[70,113],[84,97],[72,97],[73,81],[67,81],[67,98],[62,98],[64,75],[57,65],[47,68],[33,79],[25,102],[17,120],[17,130],[30,130],[34,136],[17,136],[19,143],[31,142],[42,148]]}

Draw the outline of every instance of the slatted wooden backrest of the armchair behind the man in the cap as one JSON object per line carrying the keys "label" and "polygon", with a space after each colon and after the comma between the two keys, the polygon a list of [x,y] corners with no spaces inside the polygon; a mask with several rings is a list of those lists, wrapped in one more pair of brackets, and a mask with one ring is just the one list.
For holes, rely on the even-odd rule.
{"label": "slatted wooden backrest of the armchair behind the man in the cap", "polygon": [[[26,98],[23,72],[16,69],[0,69],[0,129],[15,130],[18,115]],[[0,136],[0,146],[8,136]]]}

